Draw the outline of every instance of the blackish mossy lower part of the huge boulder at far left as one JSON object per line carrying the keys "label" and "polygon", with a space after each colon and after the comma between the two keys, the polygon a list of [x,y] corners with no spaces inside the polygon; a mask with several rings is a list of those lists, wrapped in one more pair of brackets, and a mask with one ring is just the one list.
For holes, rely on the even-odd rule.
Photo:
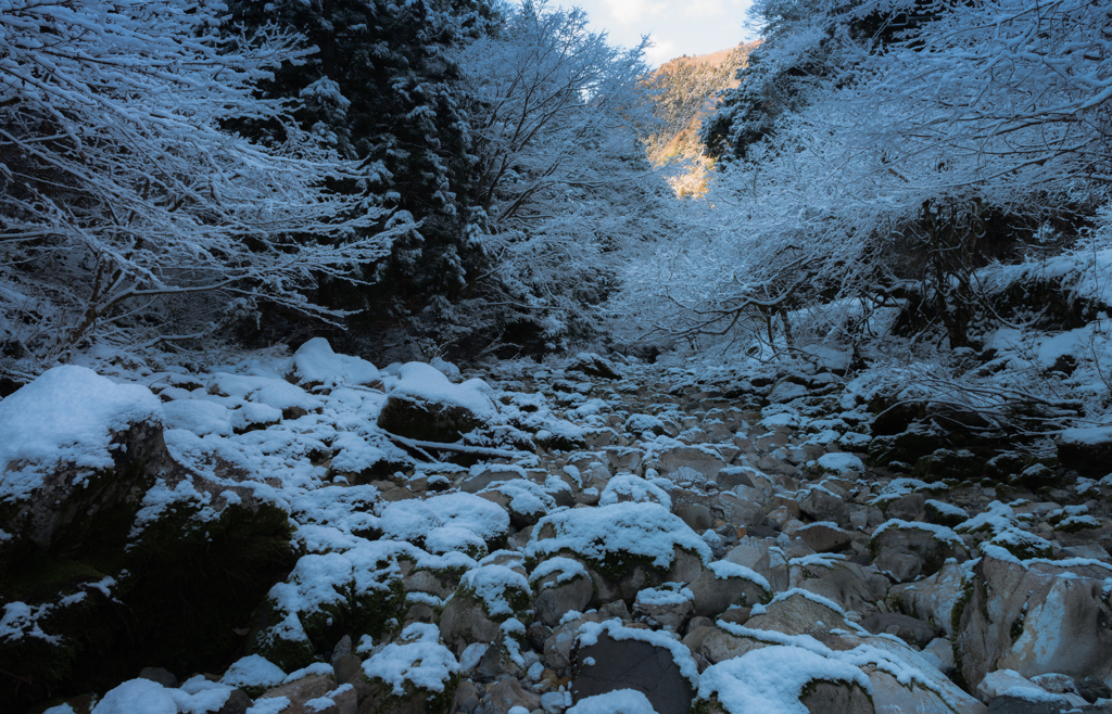
{"label": "blackish mossy lower part of the huge boulder at far left", "polygon": [[[119,502],[92,520],[86,540],[63,553],[36,551],[0,579],[0,602],[42,605],[85,592],[79,606],[44,620],[60,646],[3,647],[0,701],[31,706],[48,694],[107,691],[143,666],[179,676],[217,670],[241,645],[235,634],[276,577],[292,566],[287,514],[275,506],[229,506],[199,520],[178,503],[128,542],[138,504]],[[126,575],[125,575],[126,573]],[[82,587],[115,579],[111,599]]]}

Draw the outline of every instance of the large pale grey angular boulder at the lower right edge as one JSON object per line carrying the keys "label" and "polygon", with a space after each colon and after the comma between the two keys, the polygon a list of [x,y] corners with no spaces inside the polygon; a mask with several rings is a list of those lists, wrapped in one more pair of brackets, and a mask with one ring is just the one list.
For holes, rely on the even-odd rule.
{"label": "large pale grey angular boulder at the lower right edge", "polygon": [[993,545],[982,551],[954,613],[954,652],[971,687],[1001,668],[1026,677],[1112,674],[1112,566],[1020,561]]}

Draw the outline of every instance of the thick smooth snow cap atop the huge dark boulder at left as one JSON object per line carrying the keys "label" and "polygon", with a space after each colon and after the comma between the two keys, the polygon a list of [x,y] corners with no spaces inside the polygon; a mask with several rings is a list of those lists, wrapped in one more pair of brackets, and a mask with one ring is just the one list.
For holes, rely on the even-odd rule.
{"label": "thick smooth snow cap atop the huge dark boulder at left", "polygon": [[118,384],[82,366],[56,366],[0,401],[0,501],[28,497],[59,464],[108,469],[112,434],[160,423],[146,386]]}

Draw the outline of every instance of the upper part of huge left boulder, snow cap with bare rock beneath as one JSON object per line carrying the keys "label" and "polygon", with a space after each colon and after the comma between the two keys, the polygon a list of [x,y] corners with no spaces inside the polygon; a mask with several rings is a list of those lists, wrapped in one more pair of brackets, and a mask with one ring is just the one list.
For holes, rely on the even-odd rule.
{"label": "upper part of huge left boulder, snow cap with bare rock beneath", "polygon": [[80,366],[0,401],[0,553],[73,547],[98,514],[138,510],[168,459],[161,420],[147,388]]}

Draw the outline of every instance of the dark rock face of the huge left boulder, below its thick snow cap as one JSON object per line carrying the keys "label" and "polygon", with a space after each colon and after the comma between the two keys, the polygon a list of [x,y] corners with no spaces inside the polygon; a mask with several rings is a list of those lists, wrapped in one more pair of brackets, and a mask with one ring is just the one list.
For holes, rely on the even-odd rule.
{"label": "dark rock face of the huge left boulder, below its thick snow cap", "polygon": [[[216,667],[238,644],[234,630],[292,565],[285,511],[188,473],[160,424],[130,424],[111,444],[111,467],[60,464],[31,499],[0,504],[13,535],[0,550],[0,605],[26,609],[44,635],[0,647],[0,670],[13,674],[0,677],[0,701],[16,711],[107,688],[152,663],[179,675]],[[197,499],[137,529],[159,479],[191,481]],[[238,504],[218,495],[228,490]],[[220,509],[203,522],[201,494]]]}

